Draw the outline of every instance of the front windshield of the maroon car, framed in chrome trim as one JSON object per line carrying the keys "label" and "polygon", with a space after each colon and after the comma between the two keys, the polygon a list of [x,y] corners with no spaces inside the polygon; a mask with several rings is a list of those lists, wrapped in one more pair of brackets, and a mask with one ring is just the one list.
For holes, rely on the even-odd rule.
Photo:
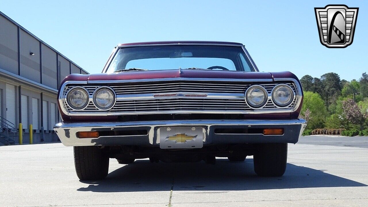
{"label": "front windshield of the maroon car, framed in chrome trim", "polygon": [[254,71],[240,46],[161,45],[120,48],[106,73],[179,68]]}

